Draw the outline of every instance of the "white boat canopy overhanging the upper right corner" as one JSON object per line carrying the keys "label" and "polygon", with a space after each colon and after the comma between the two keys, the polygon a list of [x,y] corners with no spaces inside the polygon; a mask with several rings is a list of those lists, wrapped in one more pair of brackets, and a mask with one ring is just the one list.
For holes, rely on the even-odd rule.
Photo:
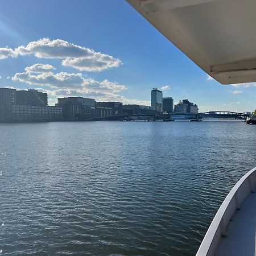
{"label": "white boat canopy overhanging the upper right corner", "polygon": [[256,81],[256,0],[127,2],[217,81]]}

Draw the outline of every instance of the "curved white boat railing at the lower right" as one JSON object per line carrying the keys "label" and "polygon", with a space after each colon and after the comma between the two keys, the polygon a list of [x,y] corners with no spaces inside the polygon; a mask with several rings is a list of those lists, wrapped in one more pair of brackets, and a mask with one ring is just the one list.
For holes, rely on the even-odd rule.
{"label": "curved white boat railing at the lower right", "polygon": [[213,256],[221,237],[226,236],[226,228],[243,200],[256,189],[256,167],[247,172],[226,196],[201,242],[196,256]]}

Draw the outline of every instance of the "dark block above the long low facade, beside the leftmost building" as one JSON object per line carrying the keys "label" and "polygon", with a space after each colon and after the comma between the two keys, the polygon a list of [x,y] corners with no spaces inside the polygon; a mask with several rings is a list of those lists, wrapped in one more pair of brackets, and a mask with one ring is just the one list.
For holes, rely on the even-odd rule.
{"label": "dark block above the long low facade, beside the leftmost building", "polygon": [[47,93],[35,89],[16,90],[16,104],[26,106],[47,106]]}

